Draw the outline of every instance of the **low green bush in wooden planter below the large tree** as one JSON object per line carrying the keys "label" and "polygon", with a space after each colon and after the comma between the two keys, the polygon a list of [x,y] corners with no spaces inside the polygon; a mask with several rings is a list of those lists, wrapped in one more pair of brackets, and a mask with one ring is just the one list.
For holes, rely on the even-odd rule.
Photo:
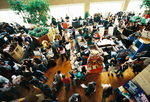
{"label": "low green bush in wooden planter below the large tree", "polygon": [[47,34],[49,31],[48,28],[45,28],[45,27],[38,27],[38,28],[35,28],[34,30],[30,30],[29,31],[29,34],[31,36],[35,36],[35,37],[42,37],[43,35]]}

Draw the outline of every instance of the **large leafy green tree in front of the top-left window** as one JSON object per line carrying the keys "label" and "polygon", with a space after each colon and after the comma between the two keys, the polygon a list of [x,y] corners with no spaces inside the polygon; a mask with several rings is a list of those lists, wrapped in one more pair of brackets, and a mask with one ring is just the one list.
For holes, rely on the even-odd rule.
{"label": "large leafy green tree in front of the top-left window", "polygon": [[23,16],[24,22],[45,25],[50,18],[48,0],[7,0],[7,2],[12,10],[18,11]]}

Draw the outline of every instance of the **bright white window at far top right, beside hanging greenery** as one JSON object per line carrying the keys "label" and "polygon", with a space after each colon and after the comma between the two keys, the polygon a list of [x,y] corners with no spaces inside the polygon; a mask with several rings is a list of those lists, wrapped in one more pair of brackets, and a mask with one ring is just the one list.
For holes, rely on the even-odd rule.
{"label": "bright white window at far top right, beside hanging greenery", "polygon": [[142,4],[141,0],[130,0],[126,11],[128,12],[134,11],[136,15],[138,13],[143,13],[145,8],[143,7],[140,9],[141,4]]}

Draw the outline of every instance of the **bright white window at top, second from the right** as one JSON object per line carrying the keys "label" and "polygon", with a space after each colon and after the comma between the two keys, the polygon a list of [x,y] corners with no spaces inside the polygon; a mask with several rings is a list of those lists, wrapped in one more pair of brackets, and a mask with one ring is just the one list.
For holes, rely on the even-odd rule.
{"label": "bright white window at top, second from the right", "polygon": [[124,1],[112,1],[112,2],[96,2],[90,3],[90,15],[93,16],[95,13],[103,14],[104,18],[107,17],[108,12],[116,13],[123,9]]}

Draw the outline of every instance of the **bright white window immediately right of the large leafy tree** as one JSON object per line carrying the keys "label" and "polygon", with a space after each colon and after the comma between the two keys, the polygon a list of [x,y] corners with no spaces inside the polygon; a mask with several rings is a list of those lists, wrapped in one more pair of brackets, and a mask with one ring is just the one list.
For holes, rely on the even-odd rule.
{"label": "bright white window immediately right of the large leafy tree", "polygon": [[63,17],[65,19],[66,14],[70,17],[70,20],[75,17],[84,17],[84,4],[68,4],[68,5],[56,5],[50,6],[50,14],[56,19]]}

